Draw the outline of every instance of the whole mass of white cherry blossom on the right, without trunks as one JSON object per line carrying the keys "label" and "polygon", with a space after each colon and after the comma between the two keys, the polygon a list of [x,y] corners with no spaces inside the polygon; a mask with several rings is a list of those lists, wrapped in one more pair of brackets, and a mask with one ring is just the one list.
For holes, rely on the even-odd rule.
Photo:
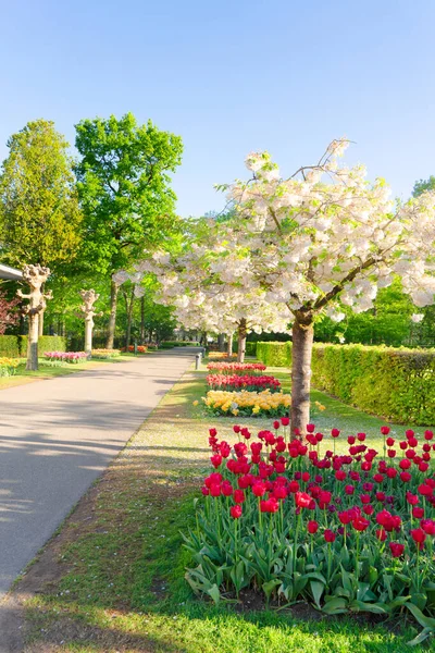
{"label": "whole mass of white cherry blossom on the right, without trunks", "polygon": [[252,178],[227,187],[236,217],[210,220],[207,237],[179,256],[140,263],[183,325],[229,333],[245,318],[254,331],[286,331],[300,311],[339,321],[343,306],[372,308],[395,275],[415,306],[434,301],[435,194],[394,202],[363,165],[339,167],[347,146],[334,140],[289,178],[268,152],[251,152]]}

